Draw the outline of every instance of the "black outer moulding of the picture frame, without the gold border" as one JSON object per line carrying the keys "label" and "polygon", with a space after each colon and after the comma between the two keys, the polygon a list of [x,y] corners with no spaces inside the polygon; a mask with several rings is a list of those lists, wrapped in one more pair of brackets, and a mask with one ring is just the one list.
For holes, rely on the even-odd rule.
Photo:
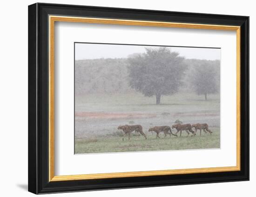
{"label": "black outer moulding of the picture frame, without the gold border", "polygon": [[[241,27],[241,170],[49,182],[48,15]],[[35,3],[28,6],[28,191],[35,194],[249,180],[249,17]]]}

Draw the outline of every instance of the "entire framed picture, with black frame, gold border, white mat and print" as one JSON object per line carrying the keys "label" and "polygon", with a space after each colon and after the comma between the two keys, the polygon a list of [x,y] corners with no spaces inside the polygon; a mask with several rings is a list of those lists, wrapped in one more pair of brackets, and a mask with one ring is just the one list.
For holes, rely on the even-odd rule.
{"label": "entire framed picture, with black frame, gold border, white mat and print", "polygon": [[249,17],[28,6],[28,191],[249,180]]}

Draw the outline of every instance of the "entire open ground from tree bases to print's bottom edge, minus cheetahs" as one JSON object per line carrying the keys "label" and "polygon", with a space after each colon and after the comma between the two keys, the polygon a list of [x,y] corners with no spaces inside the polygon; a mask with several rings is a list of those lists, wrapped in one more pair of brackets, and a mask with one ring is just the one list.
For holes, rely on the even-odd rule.
{"label": "entire open ground from tree bases to print's bottom edge, minus cheetahs", "polygon": [[[154,97],[139,93],[118,95],[83,95],[75,97],[75,153],[115,153],[220,148],[220,98],[180,93],[162,96],[160,105]],[[199,132],[195,137],[167,136],[155,139],[154,126],[171,126],[175,120],[183,123],[207,123],[213,132]],[[140,124],[148,140],[133,134],[122,141],[119,125]],[[175,129],[172,129],[175,132]]]}

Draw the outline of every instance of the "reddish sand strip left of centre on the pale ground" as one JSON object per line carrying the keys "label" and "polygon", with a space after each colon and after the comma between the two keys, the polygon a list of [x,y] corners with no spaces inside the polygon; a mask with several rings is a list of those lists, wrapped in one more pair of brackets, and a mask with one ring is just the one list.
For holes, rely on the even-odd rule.
{"label": "reddish sand strip left of centre on the pale ground", "polygon": [[76,112],[76,117],[85,118],[148,118],[156,117],[155,114],[141,114],[141,113],[104,113],[104,112]]}

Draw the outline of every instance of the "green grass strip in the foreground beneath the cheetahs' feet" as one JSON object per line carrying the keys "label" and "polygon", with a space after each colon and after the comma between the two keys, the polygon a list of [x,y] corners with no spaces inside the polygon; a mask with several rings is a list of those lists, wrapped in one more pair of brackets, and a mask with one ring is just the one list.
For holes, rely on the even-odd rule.
{"label": "green grass strip in the foreground beneath the cheetahs' feet", "polygon": [[156,139],[156,133],[147,132],[148,140],[143,136],[131,135],[131,139],[125,137],[122,141],[121,133],[101,135],[97,138],[75,139],[75,153],[115,153],[115,152],[136,152],[136,151],[164,151],[164,150],[188,150],[188,149],[208,149],[220,148],[220,130],[212,127],[211,135],[202,131],[197,132],[195,137],[187,137],[186,132],[182,132],[182,137],[167,136]]}

